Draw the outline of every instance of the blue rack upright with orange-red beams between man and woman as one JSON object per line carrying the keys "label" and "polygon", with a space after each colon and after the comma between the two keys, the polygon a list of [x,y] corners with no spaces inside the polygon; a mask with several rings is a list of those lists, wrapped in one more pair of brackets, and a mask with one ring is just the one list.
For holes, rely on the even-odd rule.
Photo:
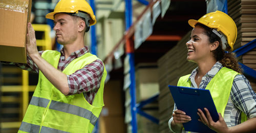
{"label": "blue rack upright with orange-red beams between man and woman", "polygon": [[[154,6],[155,3],[160,2],[160,1],[152,1],[151,3],[148,3],[146,9],[141,13],[139,18],[132,24],[132,4],[131,1],[125,1],[125,22],[126,22],[126,33],[123,38],[117,43],[116,47],[114,50],[109,54],[109,56],[104,60],[104,62],[108,62],[109,60],[112,60],[114,58],[114,53],[118,51],[119,47],[123,47],[123,43],[125,43],[125,49],[126,49],[126,56],[129,58],[129,75],[130,75],[130,93],[131,93],[131,114],[132,114],[132,132],[137,132],[137,119],[136,115],[140,114],[150,120],[152,120],[155,123],[158,123],[158,119],[144,113],[141,108],[143,105],[150,103],[152,101],[157,100],[158,95],[153,96],[152,98],[142,101],[140,103],[136,103],[136,88],[135,88],[135,48],[134,48],[134,32],[135,32],[135,26],[137,23],[139,23],[139,20],[142,20],[143,15],[147,11],[151,11],[152,7]],[[146,3],[147,4],[147,3]],[[178,41],[181,39],[181,36],[179,35],[152,35],[147,38],[148,40],[168,40],[168,41]],[[108,64],[108,63],[107,63]]]}

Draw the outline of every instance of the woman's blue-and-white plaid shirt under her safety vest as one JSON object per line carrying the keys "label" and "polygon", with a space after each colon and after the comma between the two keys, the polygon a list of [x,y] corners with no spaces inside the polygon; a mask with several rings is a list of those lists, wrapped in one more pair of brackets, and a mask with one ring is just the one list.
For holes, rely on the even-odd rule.
{"label": "woman's blue-and-white plaid shirt under her safety vest", "polygon": [[[223,68],[222,64],[220,62],[216,62],[216,64],[212,66],[211,70],[204,75],[199,87],[197,87],[195,82],[195,76],[198,72],[198,68],[196,68],[189,76],[191,81],[190,87],[205,89],[210,80],[221,68]],[[177,107],[174,105],[174,110],[176,109]],[[224,112],[224,120],[227,126],[232,127],[240,124],[242,112],[244,112],[248,118],[256,117],[256,94],[252,91],[251,85],[244,75],[236,75],[233,80],[230,96]],[[173,117],[169,120],[169,128],[170,122],[172,121]],[[182,130],[182,132],[187,131]]]}

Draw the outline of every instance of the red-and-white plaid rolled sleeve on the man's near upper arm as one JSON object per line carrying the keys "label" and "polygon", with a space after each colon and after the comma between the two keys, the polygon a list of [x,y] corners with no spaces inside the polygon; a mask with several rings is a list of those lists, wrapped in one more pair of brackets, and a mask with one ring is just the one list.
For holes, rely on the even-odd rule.
{"label": "red-and-white plaid rolled sleeve on the man's near upper arm", "polygon": [[87,64],[84,68],[67,75],[70,92],[68,95],[97,90],[103,76],[104,65],[101,60]]}

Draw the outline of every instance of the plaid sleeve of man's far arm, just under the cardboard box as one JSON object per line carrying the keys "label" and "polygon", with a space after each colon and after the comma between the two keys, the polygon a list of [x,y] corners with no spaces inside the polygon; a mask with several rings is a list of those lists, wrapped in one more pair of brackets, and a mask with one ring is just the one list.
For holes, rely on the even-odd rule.
{"label": "plaid sleeve of man's far arm, just under the cardboard box", "polygon": [[[39,54],[42,55],[42,52],[44,51],[39,51]],[[33,62],[33,60],[28,55],[27,55],[27,63],[15,63],[15,62],[3,62],[3,63],[14,64],[18,66],[20,69],[27,70],[34,73],[39,73],[39,69],[37,65]]]}

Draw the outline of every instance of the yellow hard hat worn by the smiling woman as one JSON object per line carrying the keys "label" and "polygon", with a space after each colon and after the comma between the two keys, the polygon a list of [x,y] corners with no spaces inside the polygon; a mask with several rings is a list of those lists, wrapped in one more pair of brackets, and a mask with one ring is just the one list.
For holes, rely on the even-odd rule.
{"label": "yellow hard hat worn by the smiling woman", "polygon": [[224,12],[215,11],[205,14],[198,20],[188,20],[188,24],[193,28],[195,28],[197,23],[201,23],[209,28],[214,28],[217,29],[217,31],[221,31],[226,36],[227,43],[231,48],[224,50],[233,51],[234,42],[237,39],[237,26],[230,16]]}

